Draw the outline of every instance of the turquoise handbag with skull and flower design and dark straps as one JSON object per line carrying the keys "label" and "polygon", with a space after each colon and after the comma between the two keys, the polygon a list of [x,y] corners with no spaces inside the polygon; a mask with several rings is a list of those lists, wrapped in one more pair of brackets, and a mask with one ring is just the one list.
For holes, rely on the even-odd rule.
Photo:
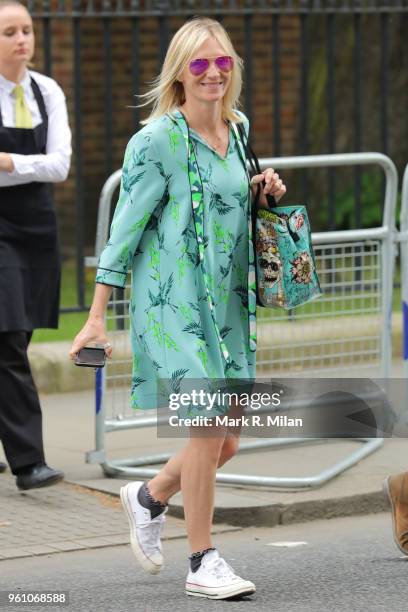
{"label": "turquoise handbag with skull and flower design and dark straps", "polygon": [[[236,125],[252,173],[261,174],[241,124]],[[258,185],[252,203],[257,304],[289,310],[322,294],[309,218],[304,206],[277,206],[273,196],[267,196],[269,209],[260,207],[260,191]]]}

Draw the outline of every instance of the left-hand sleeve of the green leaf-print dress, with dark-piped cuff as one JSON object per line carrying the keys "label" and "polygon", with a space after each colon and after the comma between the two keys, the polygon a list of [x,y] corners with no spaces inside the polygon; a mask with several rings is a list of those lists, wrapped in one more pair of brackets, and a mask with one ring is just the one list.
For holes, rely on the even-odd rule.
{"label": "left-hand sleeve of the green leaf-print dress, with dark-piped cuff", "polygon": [[99,259],[97,283],[125,286],[143,231],[166,192],[168,179],[152,135],[145,130],[135,134],[126,148],[119,199]]}

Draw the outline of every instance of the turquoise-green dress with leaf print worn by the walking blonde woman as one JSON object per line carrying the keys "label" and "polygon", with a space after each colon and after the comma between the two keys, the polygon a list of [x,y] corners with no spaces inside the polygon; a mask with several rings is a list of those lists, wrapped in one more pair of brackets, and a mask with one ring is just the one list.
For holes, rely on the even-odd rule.
{"label": "turquoise-green dress with leaf print worn by the walking blonde woman", "polygon": [[[241,116],[245,132],[248,120]],[[158,407],[163,380],[253,379],[256,319],[249,183],[230,126],[225,158],[179,111],[135,134],[96,282],[130,302],[131,405]]]}

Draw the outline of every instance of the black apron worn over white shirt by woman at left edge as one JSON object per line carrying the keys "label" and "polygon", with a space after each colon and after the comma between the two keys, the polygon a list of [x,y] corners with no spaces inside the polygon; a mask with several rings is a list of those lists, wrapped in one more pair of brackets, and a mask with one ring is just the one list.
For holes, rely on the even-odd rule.
{"label": "black apron worn over white shirt by woman at left edge", "polygon": [[[48,117],[34,79],[31,87],[42,123],[33,129],[4,127],[0,151],[46,152]],[[0,187],[0,332],[58,327],[60,256],[49,183]]]}

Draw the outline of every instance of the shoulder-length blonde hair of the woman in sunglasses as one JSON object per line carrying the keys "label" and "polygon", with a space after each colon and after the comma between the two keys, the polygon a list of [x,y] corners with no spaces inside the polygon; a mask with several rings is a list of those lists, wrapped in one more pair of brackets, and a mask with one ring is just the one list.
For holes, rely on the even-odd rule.
{"label": "shoulder-length blonde hair of the woman in sunglasses", "polygon": [[197,49],[210,37],[216,38],[226,54],[234,58],[231,81],[222,100],[222,118],[241,121],[233,109],[239,105],[241,94],[242,59],[236,53],[226,30],[218,21],[208,17],[195,17],[177,30],[170,42],[159,76],[153,81],[151,89],[139,96],[145,100],[139,104],[140,107],[153,104],[149,117],[141,121],[142,124],[172,113],[184,103],[184,87],[178,79]]}

